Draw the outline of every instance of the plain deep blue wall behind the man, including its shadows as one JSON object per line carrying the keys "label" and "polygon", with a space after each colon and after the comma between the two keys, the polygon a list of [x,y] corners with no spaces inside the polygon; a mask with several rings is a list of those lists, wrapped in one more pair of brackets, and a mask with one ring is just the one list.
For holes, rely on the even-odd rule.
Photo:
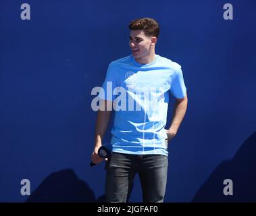
{"label": "plain deep blue wall behind the man, including its shadows", "polygon": [[[20,19],[22,3],[31,20]],[[253,0],[1,0],[0,201],[101,200],[104,164],[88,166],[91,89],[130,55],[128,23],[140,17],[159,22],[156,53],[182,65],[188,89],[165,201],[256,201],[255,11]],[[25,178],[30,197],[20,194]],[[234,196],[222,193],[227,178]],[[141,201],[138,178],[130,201]]]}

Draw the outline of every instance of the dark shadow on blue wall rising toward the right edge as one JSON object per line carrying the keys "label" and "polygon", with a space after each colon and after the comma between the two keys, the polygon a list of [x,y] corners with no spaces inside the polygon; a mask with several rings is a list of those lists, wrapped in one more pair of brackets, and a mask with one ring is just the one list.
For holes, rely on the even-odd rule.
{"label": "dark shadow on blue wall rising toward the right edge", "polygon": [[[224,195],[224,180],[233,183],[233,195]],[[256,131],[240,146],[231,161],[222,162],[201,186],[193,202],[256,201]]]}

